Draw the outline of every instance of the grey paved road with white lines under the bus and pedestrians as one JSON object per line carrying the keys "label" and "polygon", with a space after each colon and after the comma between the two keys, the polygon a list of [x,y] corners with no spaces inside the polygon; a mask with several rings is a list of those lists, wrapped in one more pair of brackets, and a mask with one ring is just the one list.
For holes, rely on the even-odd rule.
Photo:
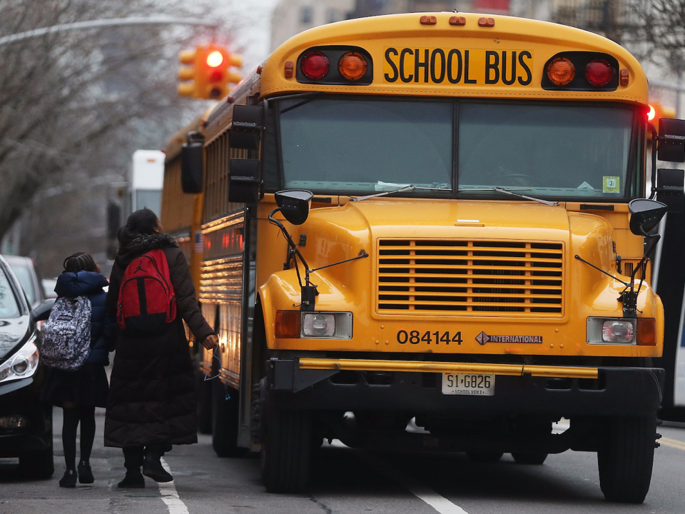
{"label": "grey paved road with white lines under the bus and pedestrians", "polygon": [[200,444],[174,448],[165,457],[175,480],[144,490],[117,490],[123,478],[120,450],[102,447],[103,413],[93,450],[93,485],[59,488],[64,472],[61,410],[55,409],[56,473],[24,481],[12,460],[0,460],[0,514],[682,514],[685,503],[685,428],[661,427],[654,478],[643,505],[607,503],[599,490],[594,454],[550,455],[542,466],[475,464],[465,455],[373,455],[334,442],[314,465],[310,491],[270,495],[260,483],[259,459],[215,457],[207,435]]}

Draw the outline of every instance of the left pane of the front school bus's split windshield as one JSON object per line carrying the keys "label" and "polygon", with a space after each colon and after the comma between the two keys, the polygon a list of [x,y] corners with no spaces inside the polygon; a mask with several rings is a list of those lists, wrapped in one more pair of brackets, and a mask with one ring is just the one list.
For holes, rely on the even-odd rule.
{"label": "left pane of the front school bus's split windshield", "polygon": [[451,102],[293,99],[280,108],[286,188],[452,191]]}

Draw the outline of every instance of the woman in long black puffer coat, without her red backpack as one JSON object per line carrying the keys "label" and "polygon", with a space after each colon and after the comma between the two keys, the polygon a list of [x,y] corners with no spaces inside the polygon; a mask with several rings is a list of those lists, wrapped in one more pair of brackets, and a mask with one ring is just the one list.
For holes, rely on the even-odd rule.
{"label": "woman in long black puffer coat, without her red backpack", "polygon": [[[203,318],[186,257],[163,233],[153,211],[141,209],[119,231],[119,251],[107,294],[108,316],[116,318],[119,288],[133,259],[161,248],[176,293],[177,316],[161,333],[136,336],[118,330],[105,418],[105,445],[123,448],[126,477],[120,488],[143,488],[146,475],[173,480],[160,458],[171,445],[198,442],[193,368],[183,320],[205,348],[215,348],[215,332]],[[141,474],[142,466],[142,474]]]}

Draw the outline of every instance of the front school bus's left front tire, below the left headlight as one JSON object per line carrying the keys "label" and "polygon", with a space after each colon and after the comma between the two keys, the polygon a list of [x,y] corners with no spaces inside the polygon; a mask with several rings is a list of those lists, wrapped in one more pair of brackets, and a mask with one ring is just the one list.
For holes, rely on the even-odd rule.
{"label": "front school bus's left front tire, below the left headlight", "polygon": [[266,490],[269,493],[301,493],[309,482],[310,413],[271,409],[263,434],[260,458]]}

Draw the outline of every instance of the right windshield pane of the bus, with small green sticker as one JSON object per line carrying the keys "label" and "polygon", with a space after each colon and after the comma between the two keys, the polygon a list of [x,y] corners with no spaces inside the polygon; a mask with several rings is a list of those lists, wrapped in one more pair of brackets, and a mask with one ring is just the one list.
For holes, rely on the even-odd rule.
{"label": "right windshield pane of the bus, with small green sticker", "polygon": [[[634,111],[624,107],[464,103],[461,193],[492,188],[535,197],[626,197]],[[632,158],[632,159],[631,159]]]}

